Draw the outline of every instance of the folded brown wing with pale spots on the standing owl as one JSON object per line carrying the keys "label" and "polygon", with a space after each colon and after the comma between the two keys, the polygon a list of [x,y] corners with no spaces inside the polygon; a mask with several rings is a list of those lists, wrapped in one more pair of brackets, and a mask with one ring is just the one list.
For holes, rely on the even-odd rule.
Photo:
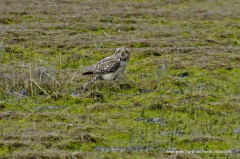
{"label": "folded brown wing with pale spots on the standing owl", "polygon": [[120,66],[120,61],[107,57],[98,61],[98,63],[85,68],[86,72],[82,75],[111,73],[116,71]]}

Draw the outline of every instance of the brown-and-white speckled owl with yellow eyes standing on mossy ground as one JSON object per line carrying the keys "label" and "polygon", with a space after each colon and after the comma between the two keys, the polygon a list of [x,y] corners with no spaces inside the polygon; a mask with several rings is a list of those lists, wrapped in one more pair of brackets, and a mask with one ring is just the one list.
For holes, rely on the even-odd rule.
{"label": "brown-and-white speckled owl with yellow eyes standing on mossy ground", "polygon": [[[96,64],[85,68],[86,72],[82,75],[91,75],[90,80],[85,84],[84,90],[96,80],[116,80],[127,67],[130,57],[130,50],[126,47],[117,48],[114,54],[106,57]],[[83,90],[83,92],[84,92]]]}

